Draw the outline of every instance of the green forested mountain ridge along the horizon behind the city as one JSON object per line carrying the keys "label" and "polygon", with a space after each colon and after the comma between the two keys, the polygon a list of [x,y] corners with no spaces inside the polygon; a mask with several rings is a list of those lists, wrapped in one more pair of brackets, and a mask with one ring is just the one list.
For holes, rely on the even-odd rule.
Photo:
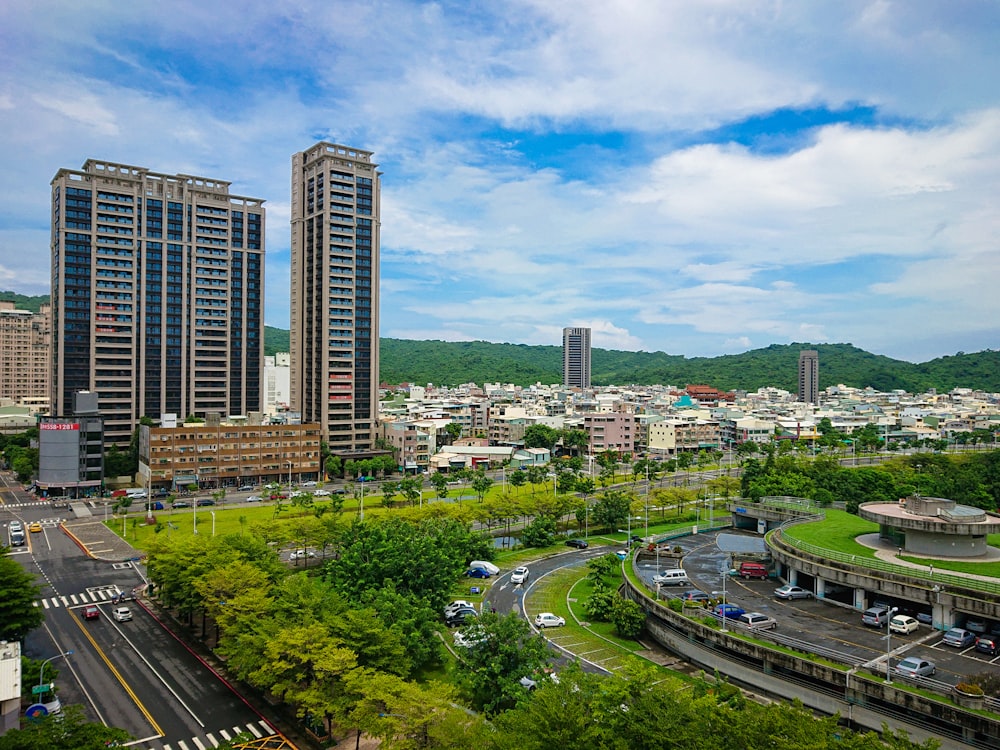
{"label": "green forested mountain ridge along the horizon behind the city", "polygon": [[[19,309],[37,311],[47,296],[26,297],[0,292]],[[819,352],[819,385],[844,385],[879,391],[895,389],[917,393],[928,388],[948,391],[974,388],[1000,392],[1000,351],[959,352],[929,362],[912,364],[871,354],[851,344],[772,344],[742,354],[722,357],[683,357],[664,352],[626,352],[593,349],[594,385],[664,384],[684,387],[710,385],[720,390],[754,391],[775,386],[796,391],[799,352]],[[264,351],[288,351],[288,331],[265,326]],[[459,383],[559,383],[561,346],[491,344],[486,341],[381,340],[383,383],[457,385]]]}

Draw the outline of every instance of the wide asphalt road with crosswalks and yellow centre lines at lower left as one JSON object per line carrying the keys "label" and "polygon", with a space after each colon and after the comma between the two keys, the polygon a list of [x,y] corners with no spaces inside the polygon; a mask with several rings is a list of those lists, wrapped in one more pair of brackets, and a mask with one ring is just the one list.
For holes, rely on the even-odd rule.
{"label": "wide asphalt road with crosswalks and yellow centre lines at lower left", "polygon": [[[274,734],[141,602],[126,602],[130,622],[114,621],[112,596],[145,583],[141,565],[87,557],[56,526],[58,511],[0,477],[6,480],[0,481],[4,528],[12,518],[25,525],[43,523],[43,530],[29,533],[26,546],[13,548],[11,556],[42,586],[38,604],[45,609],[45,622],[25,639],[24,652],[36,659],[56,657],[56,685],[64,704],[79,703],[91,720],[125,729],[138,740],[132,745],[137,748],[207,748],[240,732]],[[87,604],[99,608],[97,619],[83,619]],[[68,651],[73,653],[59,657]],[[31,675],[24,679],[34,680]]]}

